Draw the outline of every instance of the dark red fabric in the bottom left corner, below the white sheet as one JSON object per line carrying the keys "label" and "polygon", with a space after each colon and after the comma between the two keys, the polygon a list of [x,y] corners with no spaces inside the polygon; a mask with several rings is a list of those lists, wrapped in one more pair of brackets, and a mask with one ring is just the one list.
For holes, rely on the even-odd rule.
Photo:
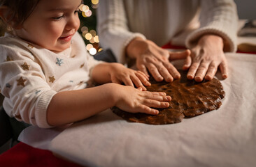
{"label": "dark red fabric in the bottom left corner, below the white sheet", "polygon": [[78,167],[79,165],[55,157],[52,152],[48,150],[32,148],[20,142],[13,146],[13,148],[0,154],[0,166]]}

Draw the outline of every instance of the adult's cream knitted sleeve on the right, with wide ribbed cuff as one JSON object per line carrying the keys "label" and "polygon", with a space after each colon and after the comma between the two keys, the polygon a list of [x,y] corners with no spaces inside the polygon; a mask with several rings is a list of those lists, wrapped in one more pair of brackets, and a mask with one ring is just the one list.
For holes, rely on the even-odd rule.
{"label": "adult's cream knitted sleeve on the right, with wide ribbed cuff", "polygon": [[204,34],[220,35],[224,40],[224,51],[236,51],[238,16],[232,0],[203,0],[199,17],[200,28],[190,33],[185,45],[192,48]]}

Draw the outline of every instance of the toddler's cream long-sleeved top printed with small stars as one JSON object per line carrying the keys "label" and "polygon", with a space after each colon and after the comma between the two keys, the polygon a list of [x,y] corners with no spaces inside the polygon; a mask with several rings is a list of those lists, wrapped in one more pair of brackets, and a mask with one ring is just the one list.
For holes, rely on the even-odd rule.
{"label": "toddler's cream long-sleeved top printed with small stars", "polygon": [[0,38],[0,88],[10,117],[38,127],[50,127],[48,104],[59,91],[88,86],[90,71],[101,63],[87,53],[76,33],[71,47],[58,54],[6,33]]}

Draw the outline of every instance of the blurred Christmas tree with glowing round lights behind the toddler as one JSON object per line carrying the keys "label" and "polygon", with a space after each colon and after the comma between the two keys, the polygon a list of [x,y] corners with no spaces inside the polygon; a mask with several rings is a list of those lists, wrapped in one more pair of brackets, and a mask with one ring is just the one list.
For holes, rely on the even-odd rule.
{"label": "blurred Christmas tree with glowing round lights behind the toddler", "polygon": [[101,51],[101,48],[99,47],[99,36],[96,31],[96,10],[98,8],[98,3],[99,0],[84,0],[83,4],[79,7],[81,13],[79,15],[80,28],[78,32],[83,35],[86,49],[91,55],[97,54],[98,51]]}

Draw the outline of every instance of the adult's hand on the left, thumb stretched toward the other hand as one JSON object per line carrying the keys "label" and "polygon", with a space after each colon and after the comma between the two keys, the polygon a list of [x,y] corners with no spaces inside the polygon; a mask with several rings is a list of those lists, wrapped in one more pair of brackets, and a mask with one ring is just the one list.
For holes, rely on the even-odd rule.
{"label": "adult's hand on the left, thumb stretched toward the other hand", "polygon": [[[170,63],[176,59],[187,58],[190,51],[170,52],[155,45],[150,40],[135,38],[126,48],[127,56],[136,58],[136,67],[148,75],[148,71],[156,81],[167,82],[180,78],[180,73]],[[186,61],[189,62],[189,61]]]}

